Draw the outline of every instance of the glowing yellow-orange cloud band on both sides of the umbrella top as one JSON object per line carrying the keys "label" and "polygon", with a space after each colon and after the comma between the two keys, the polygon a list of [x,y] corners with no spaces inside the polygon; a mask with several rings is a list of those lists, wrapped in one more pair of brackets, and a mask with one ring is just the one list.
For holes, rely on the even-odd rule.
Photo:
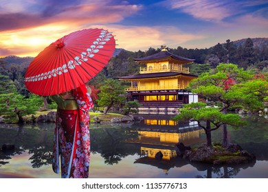
{"label": "glowing yellow-orange cloud band on both sides of the umbrella top", "polygon": [[[116,36],[118,48],[129,51],[146,50],[149,47],[158,48],[161,45],[177,47],[188,40],[203,38],[194,34],[186,34],[176,27],[146,27],[124,25],[88,25],[87,28],[104,28]],[[45,47],[58,38],[65,36],[78,29],[82,29],[78,23],[53,23],[40,27],[16,30],[0,33],[0,57],[10,54],[16,56],[37,56]]]}

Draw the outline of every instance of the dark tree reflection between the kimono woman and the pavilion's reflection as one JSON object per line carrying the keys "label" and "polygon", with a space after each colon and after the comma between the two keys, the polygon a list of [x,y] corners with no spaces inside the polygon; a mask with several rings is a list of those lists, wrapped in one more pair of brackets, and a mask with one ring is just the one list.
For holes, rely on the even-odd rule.
{"label": "dark tree reflection between the kimono woman and the pavilion's reflection", "polygon": [[118,164],[122,158],[139,152],[139,147],[125,143],[137,136],[129,128],[91,129],[91,153],[100,153],[108,165]]}

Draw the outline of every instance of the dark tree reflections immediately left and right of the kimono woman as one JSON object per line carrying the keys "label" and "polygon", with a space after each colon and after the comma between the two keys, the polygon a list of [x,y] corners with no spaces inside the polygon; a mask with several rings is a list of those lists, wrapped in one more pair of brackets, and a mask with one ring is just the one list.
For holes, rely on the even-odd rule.
{"label": "dark tree reflections immediately left and right of the kimono woman", "polygon": [[[136,154],[139,148],[124,143],[127,139],[137,138],[137,132],[130,128],[97,128],[91,129],[91,153],[99,152],[105,163],[113,165],[126,156]],[[15,143],[14,152],[0,152],[0,166],[9,163],[12,156],[28,150],[32,167],[38,168],[52,163],[52,145],[54,124],[12,125],[1,128],[1,143]]]}

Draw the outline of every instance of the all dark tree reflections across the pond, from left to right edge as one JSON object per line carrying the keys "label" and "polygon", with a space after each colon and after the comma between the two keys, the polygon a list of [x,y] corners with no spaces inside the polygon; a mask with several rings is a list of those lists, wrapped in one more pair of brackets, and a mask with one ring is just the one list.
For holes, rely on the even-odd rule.
{"label": "all dark tree reflections across the pond, from left to right edge", "polygon": [[[249,121],[245,128],[238,130],[228,128],[230,131],[230,141],[231,143],[238,143],[249,153],[255,154],[258,160],[268,160],[267,121],[259,117],[251,119],[251,121]],[[30,157],[32,167],[36,168],[52,163],[54,123],[41,123],[38,126],[34,124],[23,125],[21,127],[19,125],[7,125],[6,128],[3,125],[0,126],[0,147],[4,143],[15,143],[14,151],[9,153],[0,152],[0,167],[9,163],[12,156],[22,154],[26,150],[32,155]],[[215,133],[212,136],[217,137],[218,134],[219,139],[221,139],[221,132]],[[120,128],[120,126],[118,128],[111,128],[111,125],[109,125],[109,128],[103,128],[103,126],[101,128],[91,128],[91,153],[100,153],[108,165],[119,163],[126,156],[139,154],[140,145],[125,142],[137,139],[137,137],[138,133],[133,126],[131,128]],[[146,161],[146,164],[150,163],[148,160]],[[169,167],[164,169],[181,167],[177,160],[175,165],[169,165],[166,162],[161,163],[162,165],[157,165],[159,169],[164,165]],[[198,177],[234,177],[241,169],[244,169],[243,167],[219,168],[212,166],[207,168],[199,170],[207,171],[207,175]]]}

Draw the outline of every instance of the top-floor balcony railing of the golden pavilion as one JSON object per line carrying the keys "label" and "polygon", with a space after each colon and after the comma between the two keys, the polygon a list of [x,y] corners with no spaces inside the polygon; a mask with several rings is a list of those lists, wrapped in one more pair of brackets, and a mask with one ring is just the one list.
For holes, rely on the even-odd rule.
{"label": "top-floor balcony railing of the golden pavilion", "polygon": [[189,67],[140,67],[139,73],[157,73],[157,72],[179,72],[179,73],[190,73]]}

